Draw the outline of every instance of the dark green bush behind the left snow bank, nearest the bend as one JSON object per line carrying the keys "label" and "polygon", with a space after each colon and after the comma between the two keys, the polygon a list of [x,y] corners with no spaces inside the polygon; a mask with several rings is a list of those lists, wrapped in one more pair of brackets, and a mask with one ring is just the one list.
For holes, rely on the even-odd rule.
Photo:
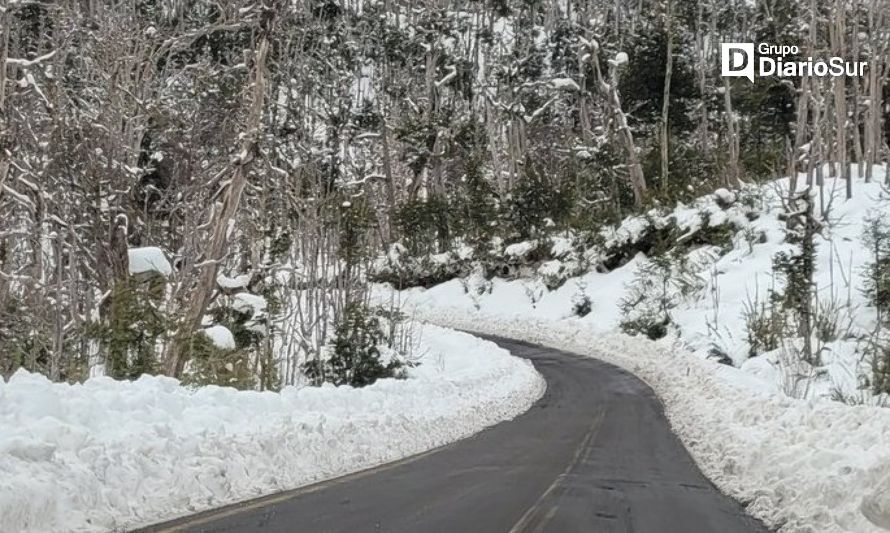
{"label": "dark green bush behind the left snow bank, nearest the bend", "polygon": [[334,331],[330,357],[305,363],[303,371],[317,385],[364,387],[381,378],[399,377],[403,362],[382,361],[380,346],[385,340],[380,318],[365,304],[351,302]]}

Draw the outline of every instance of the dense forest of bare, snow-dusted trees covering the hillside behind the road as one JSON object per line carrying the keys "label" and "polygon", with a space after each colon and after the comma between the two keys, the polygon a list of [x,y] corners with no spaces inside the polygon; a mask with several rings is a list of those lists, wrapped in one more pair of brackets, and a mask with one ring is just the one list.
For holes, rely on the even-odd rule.
{"label": "dense forest of bare, snow-dusted trees covering the hillside behind the road", "polygon": [[[381,357],[404,317],[369,283],[454,274],[391,279],[380,257],[594,240],[798,173],[855,195],[851,173],[888,157],[888,17],[884,0],[5,0],[0,374],[361,385],[410,364]],[[751,83],[721,77],[722,42],[868,68]]]}

